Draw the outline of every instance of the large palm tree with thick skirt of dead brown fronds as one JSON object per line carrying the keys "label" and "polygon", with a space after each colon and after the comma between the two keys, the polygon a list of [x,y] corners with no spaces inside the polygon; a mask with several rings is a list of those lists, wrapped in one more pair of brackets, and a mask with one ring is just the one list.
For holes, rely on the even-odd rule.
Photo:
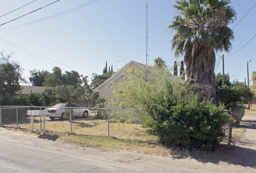
{"label": "large palm tree with thick skirt of dead brown fronds", "polygon": [[[209,99],[214,97],[215,51],[229,52],[234,39],[228,24],[236,19],[236,11],[229,6],[231,0],[178,0],[173,7],[177,16],[167,27],[175,34],[171,49],[175,56],[184,55],[187,79],[191,83],[212,88]],[[207,88],[209,89],[209,87]],[[197,92],[206,93],[205,89]]]}

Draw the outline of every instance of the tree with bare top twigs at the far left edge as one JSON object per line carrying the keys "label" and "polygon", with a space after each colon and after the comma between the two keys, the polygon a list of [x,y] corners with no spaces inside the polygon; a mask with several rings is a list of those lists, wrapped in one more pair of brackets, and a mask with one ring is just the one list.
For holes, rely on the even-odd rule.
{"label": "tree with bare top twigs at the far left edge", "polygon": [[23,69],[18,62],[11,61],[14,52],[7,55],[0,51],[0,95],[13,97],[22,88],[20,82],[25,82],[22,78]]}

